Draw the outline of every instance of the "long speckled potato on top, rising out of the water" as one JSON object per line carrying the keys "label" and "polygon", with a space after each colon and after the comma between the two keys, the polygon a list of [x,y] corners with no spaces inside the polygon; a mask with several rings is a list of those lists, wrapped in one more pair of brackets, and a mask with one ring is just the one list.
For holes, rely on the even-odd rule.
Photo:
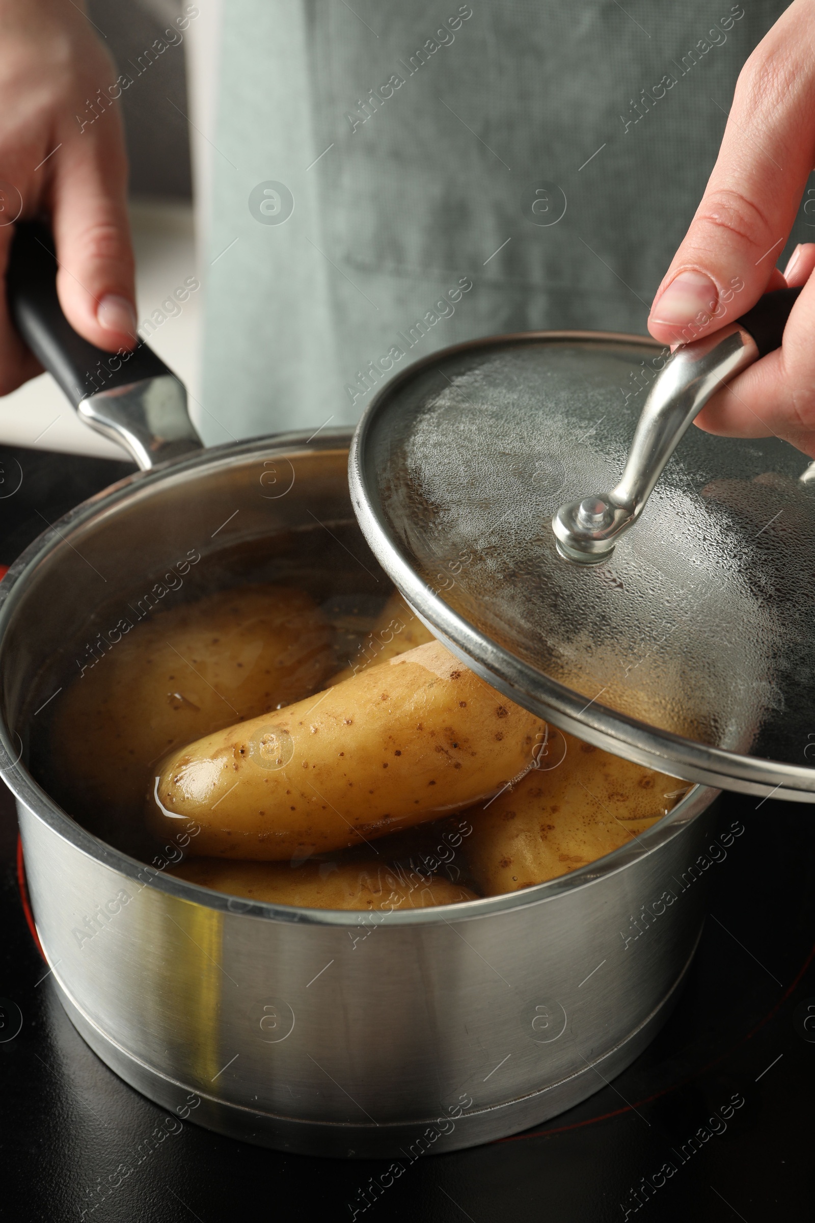
{"label": "long speckled potato on top, rising out of the water", "polygon": [[433,641],[160,767],[148,823],[194,819],[198,852],[281,860],[435,819],[529,767],[544,723]]}

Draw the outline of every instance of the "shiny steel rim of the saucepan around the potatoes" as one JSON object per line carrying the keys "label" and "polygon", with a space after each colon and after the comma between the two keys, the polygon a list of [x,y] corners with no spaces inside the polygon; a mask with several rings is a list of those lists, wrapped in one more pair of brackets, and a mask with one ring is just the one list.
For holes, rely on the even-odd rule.
{"label": "shiny steel rim of the saucepan around the potatoes", "polygon": [[[226,443],[213,446],[185,457],[181,461],[163,464],[150,471],[134,472],[117,481],[109,488],[77,505],[55,523],[48,527],[10,566],[0,582],[0,665],[2,663],[4,642],[9,626],[13,620],[15,609],[24,594],[33,574],[44,564],[48,556],[61,543],[68,542],[71,532],[86,526],[94,519],[115,512],[116,506],[131,501],[133,497],[147,493],[154,484],[169,479],[187,478],[200,468],[208,471],[233,466],[242,459],[257,454],[303,455],[325,450],[347,451],[351,443],[347,428],[324,429],[319,439],[307,438],[305,433],[272,434],[253,438],[246,442]],[[32,811],[57,837],[71,844],[79,852],[117,871],[128,879],[138,881],[158,892],[164,892],[177,900],[203,905],[232,916],[260,918],[286,923],[303,923],[323,927],[358,927],[360,918],[371,920],[376,910],[335,910],[307,909],[292,905],[275,905],[263,901],[249,901],[239,896],[213,892],[199,884],[189,883],[175,876],[164,874],[155,867],[115,849],[93,833],[88,832],[62,808],[39,785],[28,769],[21,763],[22,742],[17,744],[5,720],[5,711],[0,709],[0,774],[6,784],[29,811]],[[721,791],[712,786],[694,784],[689,793],[651,828],[646,829],[634,841],[622,845],[602,859],[589,862],[568,874],[558,876],[544,883],[538,883],[519,892],[502,893],[497,896],[483,896],[475,900],[458,901],[430,909],[393,910],[382,912],[381,926],[430,926],[450,923],[479,917],[494,916],[502,911],[516,911],[532,905],[551,901],[560,895],[571,894],[624,871],[645,856],[656,852],[660,846],[678,835],[682,828],[705,811]]]}

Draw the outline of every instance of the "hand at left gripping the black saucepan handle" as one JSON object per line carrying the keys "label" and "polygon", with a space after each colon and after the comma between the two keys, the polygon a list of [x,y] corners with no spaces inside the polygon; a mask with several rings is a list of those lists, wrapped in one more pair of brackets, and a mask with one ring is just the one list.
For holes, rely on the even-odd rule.
{"label": "hand at left gripping the black saucepan handle", "polygon": [[[0,0],[0,273],[17,213],[44,214],[56,240],[62,309],[108,351],[132,349],[137,339],[116,81],[71,0]],[[38,372],[0,292],[0,395]]]}

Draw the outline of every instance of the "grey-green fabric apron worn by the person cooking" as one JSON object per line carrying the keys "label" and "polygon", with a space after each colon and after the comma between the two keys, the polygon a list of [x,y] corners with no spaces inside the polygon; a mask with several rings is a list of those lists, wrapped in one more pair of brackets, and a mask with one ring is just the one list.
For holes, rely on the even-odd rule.
{"label": "grey-green fabric apron worn by the person cooking", "polygon": [[208,440],[354,423],[395,372],[479,335],[645,333],[784,7],[230,0]]}

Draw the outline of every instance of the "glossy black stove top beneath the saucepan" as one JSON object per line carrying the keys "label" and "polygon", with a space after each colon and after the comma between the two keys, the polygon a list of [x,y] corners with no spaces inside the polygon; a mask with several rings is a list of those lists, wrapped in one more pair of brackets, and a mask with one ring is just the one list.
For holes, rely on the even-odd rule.
{"label": "glossy black stove top beneath the saucepan", "polygon": [[[0,451],[0,563],[127,464]],[[164,1110],[77,1035],[29,934],[0,786],[0,1217],[15,1223],[378,1219],[606,1223],[813,1218],[815,811],[725,795],[744,833],[665,1029],[577,1108],[517,1137],[386,1162],[280,1155]],[[809,1016],[809,1019],[808,1019]],[[18,1029],[18,1031],[17,1031]],[[379,1188],[375,1188],[379,1186]],[[385,1186],[385,1188],[384,1188]],[[354,1213],[356,1212],[356,1213]]]}

